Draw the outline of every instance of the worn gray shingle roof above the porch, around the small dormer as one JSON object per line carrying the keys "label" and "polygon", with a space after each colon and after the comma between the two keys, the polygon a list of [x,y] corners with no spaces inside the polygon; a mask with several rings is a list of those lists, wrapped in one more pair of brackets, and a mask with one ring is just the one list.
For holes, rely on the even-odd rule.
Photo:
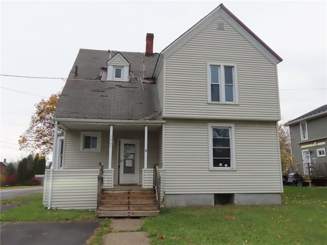
{"label": "worn gray shingle roof above the porch, around the small dormer", "polygon": [[[110,51],[111,57],[117,51]],[[130,63],[137,78],[152,76],[158,54],[120,52]],[[100,81],[101,67],[106,67],[108,51],[81,49],[61,93],[55,118],[161,120],[155,83]],[[75,77],[78,65],[78,77]],[[94,80],[94,81],[85,81]],[[144,89],[143,89],[144,88]]]}

